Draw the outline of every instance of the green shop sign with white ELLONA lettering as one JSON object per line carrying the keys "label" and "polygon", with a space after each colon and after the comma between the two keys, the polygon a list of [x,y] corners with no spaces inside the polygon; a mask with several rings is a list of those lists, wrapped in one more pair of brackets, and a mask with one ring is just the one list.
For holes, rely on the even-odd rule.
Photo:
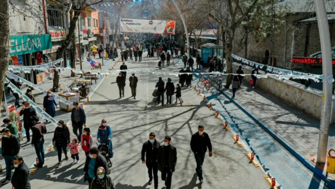
{"label": "green shop sign with white ELLONA lettering", "polygon": [[51,36],[44,35],[13,35],[9,39],[9,56],[27,54],[52,48]]}

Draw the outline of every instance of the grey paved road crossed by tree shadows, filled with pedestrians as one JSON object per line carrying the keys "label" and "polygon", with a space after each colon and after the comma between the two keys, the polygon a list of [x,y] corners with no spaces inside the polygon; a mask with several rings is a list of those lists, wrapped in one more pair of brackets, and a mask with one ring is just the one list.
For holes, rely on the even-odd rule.
{"label": "grey paved road crossed by tree shadows, filled with pedestrians", "polygon": [[[118,65],[118,67],[121,64]],[[127,62],[128,69],[158,70],[156,58],[143,58],[141,63]],[[166,72],[178,71],[176,65],[163,68]],[[156,133],[156,138],[162,142],[166,135],[172,136],[172,144],[177,147],[178,162],[176,172],[172,178],[174,189],[266,189],[269,185],[261,169],[248,164],[244,148],[233,144],[231,133],[223,130],[221,122],[214,118],[201,98],[191,89],[183,89],[183,105],[173,104],[161,106],[152,102],[151,93],[154,90],[157,76],[148,73],[136,73],[139,78],[136,100],[131,99],[130,88],[126,86],[125,98],[119,97],[116,84],[117,73],[109,76],[92,95],[92,101],[85,107],[87,127],[96,136],[100,121],[106,118],[113,131],[113,168],[111,177],[118,189],[144,189],[148,186],[148,176],[145,165],[140,161],[142,144],[148,139],[150,132]],[[164,76],[164,74],[161,74]],[[130,73],[127,74],[127,77]],[[167,75],[163,79],[167,80]],[[176,84],[178,78],[171,76]],[[165,99],[166,100],[166,99]],[[175,100],[175,98],[173,99]],[[205,132],[209,134],[213,145],[213,157],[206,155],[204,162],[204,183],[200,186],[195,174],[196,163],[189,147],[192,133],[197,131],[199,124],[205,125]],[[54,128],[48,128],[50,132]],[[71,130],[71,129],[70,129]],[[71,135],[74,138],[74,135]],[[51,138],[46,139],[50,141]],[[48,142],[46,142],[48,144]],[[35,158],[35,151],[27,146],[25,158]],[[80,153],[80,163],[73,164],[71,160],[63,162],[61,168],[56,169],[56,152],[47,154],[45,167],[30,176],[34,189],[45,188],[87,188],[83,183],[84,153]],[[3,164],[3,161],[0,161]],[[31,163],[29,162],[30,166]],[[3,174],[1,173],[1,178]],[[9,184],[3,187],[11,188]],[[159,188],[163,187],[162,182]]]}

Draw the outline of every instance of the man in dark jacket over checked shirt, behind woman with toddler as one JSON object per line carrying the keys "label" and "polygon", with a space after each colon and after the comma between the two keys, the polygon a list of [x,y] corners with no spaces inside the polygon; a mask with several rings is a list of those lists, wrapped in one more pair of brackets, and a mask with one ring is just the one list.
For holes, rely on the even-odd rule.
{"label": "man in dark jacket over checked shirt, behind woman with toddler", "polygon": [[[71,121],[74,135],[77,136],[79,142],[83,131],[83,125],[86,127],[86,114],[83,108],[79,107],[78,102],[73,102],[74,108],[71,112]],[[79,135],[78,135],[79,130]]]}

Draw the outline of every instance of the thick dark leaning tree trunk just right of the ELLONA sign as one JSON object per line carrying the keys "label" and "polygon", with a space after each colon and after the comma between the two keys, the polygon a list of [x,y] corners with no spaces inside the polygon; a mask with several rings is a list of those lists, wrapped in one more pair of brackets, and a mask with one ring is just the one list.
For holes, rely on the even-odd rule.
{"label": "thick dark leaning tree trunk just right of the ELLONA sign", "polygon": [[[78,20],[78,17],[81,13],[82,8],[80,8],[79,10],[74,10],[74,15],[72,20],[70,21],[70,28],[69,28],[69,33],[66,36],[66,39],[64,40],[63,44],[57,49],[56,51],[56,60],[58,60],[59,58],[63,57],[63,53],[65,51],[65,49],[70,45],[71,43],[71,39],[73,38],[75,29],[76,29],[76,22]],[[79,28],[78,28],[79,30]],[[80,36],[78,36],[80,37]],[[59,84],[59,74],[58,72],[55,70],[55,75],[54,75],[54,80],[53,80],[53,89],[55,87],[57,87]]]}

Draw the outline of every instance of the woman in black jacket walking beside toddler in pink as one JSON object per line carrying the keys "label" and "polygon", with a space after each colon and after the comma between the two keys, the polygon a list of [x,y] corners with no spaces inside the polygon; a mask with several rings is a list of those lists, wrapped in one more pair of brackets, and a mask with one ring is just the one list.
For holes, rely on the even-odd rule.
{"label": "woman in black jacket walking beside toddler in pink", "polygon": [[66,147],[70,144],[70,131],[63,120],[58,122],[58,127],[56,127],[55,129],[52,142],[54,143],[54,147],[57,148],[58,152],[57,168],[59,168],[62,165],[62,151],[64,152],[65,160],[66,161],[69,160],[67,156]]}

